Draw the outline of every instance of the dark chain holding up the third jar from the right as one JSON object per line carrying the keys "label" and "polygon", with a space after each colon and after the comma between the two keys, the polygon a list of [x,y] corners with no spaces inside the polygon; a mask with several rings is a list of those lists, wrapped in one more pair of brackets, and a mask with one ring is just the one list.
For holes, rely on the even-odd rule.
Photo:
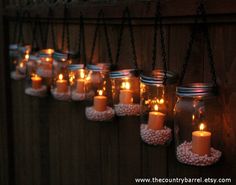
{"label": "dark chain holding up the third jar from the right", "polygon": [[126,7],[126,9],[123,12],[121,28],[120,28],[120,33],[119,33],[119,37],[118,37],[118,47],[117,47],[115,64],[118,65],[118,61],[119,61],[119,57],[120,57],[122,37],[123,37],[123,32],[124,32],[124,24],[125,24],[126,19],[128,21],[128,27],[129,27],[130,42],[131,42],[132,54],[133,54],[133,63],[134,63],[135,69],[138,69],[136,49],[135,49],[135,40],[134,40],[134,32],[133,32],[133,26],[132,26],[132,20],[131,20],[131,16],[130,16],[130,11],[129,11],[128,7]]}

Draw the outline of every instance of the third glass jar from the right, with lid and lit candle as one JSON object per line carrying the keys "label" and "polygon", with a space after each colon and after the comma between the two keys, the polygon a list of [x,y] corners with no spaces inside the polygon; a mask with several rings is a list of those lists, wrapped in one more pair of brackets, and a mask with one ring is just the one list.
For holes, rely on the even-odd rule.
{"label": "third glass jar from the right, with lid and lit candle", "polygon": [[140,113],[139,72],[124,69],[110,73],[112,97],[117,116],[138,116]]}

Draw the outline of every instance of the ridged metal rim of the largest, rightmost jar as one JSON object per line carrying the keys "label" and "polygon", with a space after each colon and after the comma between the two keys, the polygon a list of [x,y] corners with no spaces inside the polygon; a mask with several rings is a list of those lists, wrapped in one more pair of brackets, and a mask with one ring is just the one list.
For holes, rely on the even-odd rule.
{"label": "ridged metal rim of the largest, rightmost jar", "polygon": [[216,87],[212,83],[188,83],[176,87],[176,94],[181,97],[214,96]]}

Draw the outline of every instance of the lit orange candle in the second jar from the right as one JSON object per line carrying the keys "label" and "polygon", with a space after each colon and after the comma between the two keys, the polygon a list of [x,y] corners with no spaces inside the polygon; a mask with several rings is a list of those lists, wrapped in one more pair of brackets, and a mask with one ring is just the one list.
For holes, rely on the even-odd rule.
{"label": "lit orange candle in the second jar from the right", "polygon": [[154,111],[149,112],[148,128],[153,130],[161,130],[164,127],[165,114],[158,112],[158,105],[154,105]]}

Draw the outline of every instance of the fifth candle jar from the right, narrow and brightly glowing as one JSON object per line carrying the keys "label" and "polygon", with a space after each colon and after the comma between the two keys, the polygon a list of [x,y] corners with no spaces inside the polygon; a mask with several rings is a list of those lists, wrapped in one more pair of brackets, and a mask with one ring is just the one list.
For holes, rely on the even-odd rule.
{"label": "fifth candle jar from the right, narrow and brightly glowing", "polygon": [[86,99],[87,70],[84,64],[71,64],[68,67],[71,87],[71,99],[82,101]]}

